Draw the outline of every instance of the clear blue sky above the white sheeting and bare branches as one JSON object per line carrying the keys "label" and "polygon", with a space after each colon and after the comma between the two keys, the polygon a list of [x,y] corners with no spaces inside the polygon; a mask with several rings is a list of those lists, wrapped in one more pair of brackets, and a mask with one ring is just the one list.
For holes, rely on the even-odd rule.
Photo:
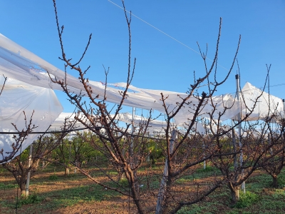
{"label": "clear blue sky above the white sheeting and bare branches", "polygon": [[[119,0],[113,0],[122,6]],[[0,0],[0,33],[63,69],[53,2]],[[93,39],[82,68],[91,66],[88,77],[104,81],[103,66],[110,67],[109,83],[125,82],[128,68],[128,27],[123,10],[108,0],[58,1],[58,16],[65,26],[63,42],[68,58],[77,59]],[[246,81],[263,86],[266,63],[271,63],[270,93],[285,98],[285,1],[125,1],[127,10],[198,51],[208,44],[214,58],[219,17],[222,36],[219,64],[229,68],[237,49],[242,86]],[[201,56],[160,31],[133,17],[132,56],[137,58],[133,85],[140,88],[186,92],[196,76],[204,74]],[[207,61],[211,63],[211,61]],[[218,78],[227,73],[218,68]],[[237,66],[217,95],[235,91]],[[76,73],[72,73],[76,75]],[[281,86],[274,86],[283,84]],[[205,88],[206,90],[207,88]],[[267,89],[266,89],[267,91]],[[63,93],[56,92],[64,111],[72,111]]]}

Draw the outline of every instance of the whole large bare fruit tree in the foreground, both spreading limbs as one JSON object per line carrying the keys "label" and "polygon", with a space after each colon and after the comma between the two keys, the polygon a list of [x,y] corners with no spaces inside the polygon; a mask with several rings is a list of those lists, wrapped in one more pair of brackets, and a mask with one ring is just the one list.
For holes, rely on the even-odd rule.
{"label": "whole large bare fruit tree in the foreground, both spreading limbs", "polygon": [[[229,182],[229,178],[225,174],[221,176],[217,175],[217,173],[212,173],[207,182],[193,179],[187,188],[182,188],[179,184],[179,179],[182,178],[182,176],[191,175],[195,178],[195,172],[204,161],[214,161],[214,163],[218,165],[216,160],[229,160],[241,153],[241,149],[235,151],[227,149],[228,141],[231,141],[231,133],[234,128],[237,128],[237,126],[246,121],[252,111],[254,111],[254,108],[250,109],[247,115],[239,122],[234,123],[233,126],[222,126],[220,125],[222,116],[232,110],[235,99],[232,105],[224,105],[221,111],[220,108],[217,108],[217,103],[215,103],[213,98],[217,88],[222,86],[229,78],[230,73],[232,73],[236,63],[241,37],[239,36],[237,51],[234,53],[229,71],[224,75],[222,81],[217,81],[217,60],[222,29],[222,19],[220,19],[214,59],[209,66],[207,64],[207,51],[205,53],[202,52],[198,44],[204,62],[204,75],[199,78],[195,77],[195,81],[190,85],[191,88],[189,88],[187,94],[179,96],[180,101],[176,103],[169,104],[168,100],[170,96],[163,93],[160,94],[160,101],[162,101],[165,113],[166,126],[160,138],[152,140],[162,148],[162,153],[165,158],[165,168],[161,168],[159,173],[151,169],[147,169],[145,173],[142,173],[139,169],[142,167],[142,163],[149,153],[147,146],[150,143],[150,138],[147,136],[147,130],[152,120],[151,111],[150,117],[145,120],[144,124],[140,124],[138,127],[139,131],[136,133],[133,131],[131,134],[128,133],[128,129],[130,126],[134,126],[134,124],[128,123],[126,127],[123,128],[118,124],[118,115],[124,102],[128,98],[130,83],[133,80],[135,72],[135,59],[133,61],[133,67],[131,65],[131,13],[130,17],[128,17],[124,1],[122,2],[129,33],[128,72],[126,73],[125,89],[120,91],[120,103],[113,107],[113,113],[111,114],[111,111],[108,110],[106,93],[103,99],[98,101],[99,95],[96,95],[96,92],[92,90],[92,86],[90,86],[89,80],[86,77],[86,73],[90,67],[83,70],[81,66],[79,66],[88,51],[92,34],[89,36],[88,43],[81,58],[76,62],[68,58],[63,46],[64,28],[63,26],[59,26],[55,0],[53,0],[53,5],[56,14],[58,38],[61,45],[60,59],[64,63],[66,73],[68,69],[78,72],[78,79],[84,91],[81,91],[80,94],[74,94],[73,91],[69,90],[67,76],[62,79],[50,76],[51,81],[59,84],[68,96],[68,100],[78,108],[78,113],[74,118],[90,131],[90,136],[83,137],[83,140],[88,141],[95,150],[100,151],[100,153],[108,158],[113,168],[125,175],[128,181],[128,187],[122,185],[122,183],[119,182],[120,179],[115,179],[113,175],[108,174],[103,168],[100,168],[100,166],[98,166],[98,168],[104,173],[105,178],[113,182],[113,185],[105,184],[101,180],[93,178],[87,170],[78,167],[81,173],[95,183],[102,185],[104,188],[115,190],[132,198],[138,213],[149,213],[154,210],[156,210],[156,213],[175,213],[184,205],[192,205],[201,201],[223,183]],[[108,70],[106,69],[105,76],[105,83],[107,83]],[[199,95],[197,89],[205,84],[208,86],[207,91],[203,91]],[[107,84],[105,84],[105,86],[106,85]],[[177,94],[175,96],[177,97]],[[254,101],[254,106],[256,106],[256,103],[257,101]],[[208,118],[207,126],[210,131],[208,133],[199,133],[197,131],[197,124],[200,121],[204,108],[210,109],[206,115]],[[177,129],[172,121],[175,116],[182,112],[191,113],[191,118],[189,118],[187,123],[183,124],[183,129]],[[214,128],[214,126],[216,128]],[[100,141],[98,141],[98,139]],[[154,187],[153,183],[160,183],[160,185]],[[144,185],[146,185],[147,188],[143,188]],[[156,205],[146,208],[144,204],[150,201],[155,201]]]}

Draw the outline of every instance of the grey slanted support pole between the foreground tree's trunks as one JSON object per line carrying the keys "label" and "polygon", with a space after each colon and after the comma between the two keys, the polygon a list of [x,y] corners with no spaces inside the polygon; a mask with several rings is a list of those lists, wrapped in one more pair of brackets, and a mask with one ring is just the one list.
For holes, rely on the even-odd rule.
{"label": "grey slanted support pole between the foreground tree's trunks", "polygon": [[[170,154],[173,152],[175,138],[176,138],[176,130],[174,129],[171,133],[171,140],[170,140]],[[165,198],[165,188],[166,188],[166,181],[168,177],[168,165],[167,165],[167,158],[165,161],[165,170],[163,171],[163,177],[160,183],[160,191],[157,195],[157,204],[156,204],[156,210],[155,214],[161,214],[162,213],[162,201],[163,198]]]}

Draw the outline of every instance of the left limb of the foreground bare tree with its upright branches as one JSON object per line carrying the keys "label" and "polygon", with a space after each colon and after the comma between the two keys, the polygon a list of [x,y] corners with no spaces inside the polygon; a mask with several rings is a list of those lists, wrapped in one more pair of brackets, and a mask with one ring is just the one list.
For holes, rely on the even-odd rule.
{"label": "left limb of the foreground bare tree with its upright branches", "polygon": [[[140,203],[140,187],[138,185],[138,176],[137,176],[137,170],[142,164],[142,161],[145,156],[145,140],[143,140],[143,136],[145,133],[142,133],[142,140],[140,140],[137,143],[133,142],[133,138],[130,136],[126,136],[126,132],[129,128],[127,126],[125,129],[120,128],[118,126],[117,116],[120,112],[123,102],[125,98],[128,96],[128,86],[130,86],[131,81],[133,80],[133,74],[135,71],[135,60],[133,63],[133,68],[131,68],[131,35],[130,35],[130,22],[131,17],[128,19],[128,16],[125,12],[126,21],[128,24],[128,31],[129,31],[129,57],[128,57],[128,73],[127,73],[127,87],[124,91],[121,91],[122,99],[118,106],[116,106],[115,113],[113,116],[110,116],[110,111],[107,109],[107,104],[105,103],[105,97],[103,101],[97,101],[96,98],[98,96],[93,96],[92,88],[88,85],[88,78],[85,77],[86,72],[88,71],[89,67],[86,70],[82,70],[79,66],[79,63],[81,63],[82,58],[85,56],[86,51],[88,49],[88,46],[90,44],[90,39],[92,34],[89,36],[88,44],[86,46],[85,51],[83,52],[81,58],[76,62],[72,63],[71,59],[66,57],[66,53],[64,51],[63,47],[63,40],[62,40],[62,34],[63,34],[63,26],[60,28],[58,24],[58,15],[57,15],[57,9],[56,9],[56,1],[53,1],[54,8],[55,8],[55,14],[56,14],[56,24],[58,27],[58,36],[61,44],[61,51],[62,56],[61,60],[65,63],[65,71],[67,68],[71,68],[75,71],[78,71],[78,78],[83,84],[83,87],[85,88],[84,93],[86,93],[86,96],[90,100],[90,104],[87,106],[84,101],[82,101],[81,95],[74,95],[70,91],[68,91],[68,87],[66,84],[66,79],[53,79],[53,83],[58,83],[61,85],[61,88],[66,93],[66,95],[69,98],[69,101],[73,103],[77,108],[78,111],[80,111],[81,114],[77,114],[75,116],[76,120],[81,122],[86,128],[88,128],[92,133],[95,133],[102,142],[104,151],[106,156],[110,158],[110,162],[113,163],[116,167],[122,168],[125,178],[128,179],[128,183],[130,185],[130,191],[126,188],[121,188],[121,186],[118,184],[120,188],[113,188],[111,186],[106,186],[105,184],[101,183],[99,180],[96,180],[95,178],[92,178],[87,171],[81,170],[82,173],[88,176],[88,178],[95,181],[95,183],[98,183],[100,185],[103,185],[105,188],[109,188],[111,190],[116,190],[123,195],[128,195],[133,198],[133,201],[135,205],[138,207],[138,210],[140,213],[142,213],[142,204]],[[106,74],[106,80],[107,83],[107,75],[108,71],[105,70]],[[98,124],[100,124],[100,128],[98,128]],[[146,126],[147,127],[147,126]],[[100,131],[100,129],[104,129],[104,133]],[[120,134],[118,134],[120,133]],[[91,138],[92,139],[92,138]],[[93,145],[95,147],[99,147],[95,141],[93,141]],[[136,148],[138,151],[137,153],[133,153],[133,148]],[[109,177],[110,178],[110,177]],[[110,178],[110,180],[113,180],[113,178]],[[115,182],[115,180],[113,180]]]}

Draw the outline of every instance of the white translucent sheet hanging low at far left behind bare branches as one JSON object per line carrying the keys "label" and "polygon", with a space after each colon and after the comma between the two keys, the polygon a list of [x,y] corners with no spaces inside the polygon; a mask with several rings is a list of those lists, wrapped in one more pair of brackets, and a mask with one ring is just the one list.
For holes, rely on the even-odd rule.
{"label": "white translucent sheet hanging low at far left behind bare branches", "polygon": [[[0,76],[0,88],[3,83],[4,77]],[[37,126],[33,131],[43,132],[55,121],[61,111],[63,107],[53,90],[7,78],[0,96],[0,131],[16,132],[16,128],[19,131],[26,130],[26,123],[28,124],[32,119],[31,123]],[[16,128],[11,123],[14,123]],[[0,134],[0,151],[3,150],[4,156],[8,156],[13,151],[11,147],[15,143],[13,137],[13,134]],[[21,151],[24,151],[37,137],[37,134],[28,135],[22,144]],[[1,158],[0,156],[0,160]]]}

